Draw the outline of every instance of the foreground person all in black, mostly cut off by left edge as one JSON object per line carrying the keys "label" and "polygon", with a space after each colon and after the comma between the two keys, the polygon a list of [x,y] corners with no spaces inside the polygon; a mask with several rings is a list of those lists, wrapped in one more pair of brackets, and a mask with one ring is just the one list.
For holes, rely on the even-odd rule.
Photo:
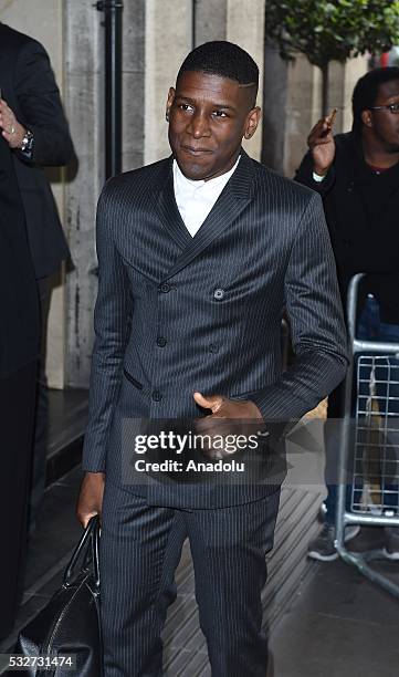
{"label": "foreground person all in black, mostly cut off by left edge", "polygon": [[27,533],[39,302],[10,149],[0,138],[0,638],[13,625]]}

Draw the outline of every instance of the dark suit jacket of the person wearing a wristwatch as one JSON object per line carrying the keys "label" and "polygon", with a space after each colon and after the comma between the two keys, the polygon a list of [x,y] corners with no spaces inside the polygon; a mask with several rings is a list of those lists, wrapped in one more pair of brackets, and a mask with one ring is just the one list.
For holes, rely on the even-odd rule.
{"label": "dark suit jacket of the person wearing a wristwatch", "polygon": [[17,119],[34,134],[31,160],[19,152],[12,155],[35,277],[43,278],[55,272],[70,252],[42,166],[69,163],[73,145],[45,50],[2,23],[0,85]]}

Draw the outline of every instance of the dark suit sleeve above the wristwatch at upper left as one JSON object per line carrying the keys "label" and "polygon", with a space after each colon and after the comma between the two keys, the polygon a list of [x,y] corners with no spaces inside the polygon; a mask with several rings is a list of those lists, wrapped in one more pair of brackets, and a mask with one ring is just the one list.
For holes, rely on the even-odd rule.
{"label": "dark suit sleeve above the wristwatch at upper left", "polygon": [[50,59],[35,40],[20,50],[14,86],[23,115],[19,122],[34,135],[32,158],[28,160],[21,153],[20,158],[43,166],[66,165],[73,145]]}

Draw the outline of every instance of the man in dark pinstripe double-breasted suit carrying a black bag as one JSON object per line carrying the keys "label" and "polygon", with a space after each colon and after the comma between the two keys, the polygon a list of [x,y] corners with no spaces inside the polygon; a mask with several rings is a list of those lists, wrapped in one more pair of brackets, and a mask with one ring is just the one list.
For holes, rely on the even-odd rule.
{"label": "man in dark pinstripe double-breasted suit carrying a black bag", "polygon": [[[102,513],[106,677],[162,675],[160,633],[187,537],[213,677],[266,675],[261,591],[280,480],[143,479],[129,445],[144,419],[199,417],[212,439],[231,419],[267,433],[271,419],[300,418],[345,374],[321,200],[241,148],[259,122],[256,90],[258,66],[239,46],[193,50],[167,100],[172,157],[112,179],[99,200],[77,514],[85,524]],[[296,353],[285,373],[284,309]],[[165,454],[174,456],[170,446]]]}

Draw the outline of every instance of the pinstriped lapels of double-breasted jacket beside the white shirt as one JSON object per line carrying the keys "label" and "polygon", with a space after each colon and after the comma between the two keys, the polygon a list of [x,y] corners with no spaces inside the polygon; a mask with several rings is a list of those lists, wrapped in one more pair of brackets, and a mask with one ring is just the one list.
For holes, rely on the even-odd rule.
{"label": "pinstriped lapels of double-breasted jacket beside the white shirt", "polygon": [[[209,247],[211,242],[232,223],[232,221],[240,216],[243,209],[245,209],[252,199],[253,171],[254,166],[251,158],[244,150],[241,150],[241,159],[234,174],[225,185],[213,208],[193,238],[190,236],[181,220],[175,200],[174,183],[171,178],[172,201],[175,210],[179,216],[179,222],[176,220],[175,216],[175,223],[171,223],[171,219],[174,218],[174,209],[170,205],[170,197],[164,202],[164,207],[165,205],[169,205],[168,210],[165,210],[164,215],[167,215],[168,217],[168,228],[172,237],[175,237],[175,239],[176,237],[179,237],[179,241],[181,244],[185,241],[186,247],[181,252],[181,256],[178,257],[170,270],[168,270],[165,279],[171,278],[179,272],[179,270],[188,265],[207,247]],[[180,233],[180,225],[188,235],[188,240]]]}

